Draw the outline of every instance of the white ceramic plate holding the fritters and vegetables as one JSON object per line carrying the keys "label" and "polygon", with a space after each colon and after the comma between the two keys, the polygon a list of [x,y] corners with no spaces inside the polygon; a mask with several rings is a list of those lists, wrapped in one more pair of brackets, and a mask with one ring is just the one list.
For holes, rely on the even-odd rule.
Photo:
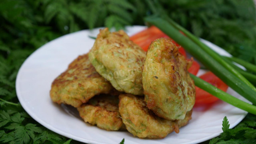
{"label": "white ceramic plate holding the fritters and vegetables", "polygon": [[[128,35],[132,35],[144,28],[132,26],[126,30]],[[51,83],[66,70],[72,60],[90,50],[94,40],[88,36],[96,36],[98,30],[82,30],[57,38],[36,50],[22,64],[16,79],[18,99],[26,112],[46,128],[68,138],[91,144],[118,144],[123,138],[125,144],[194,144],[218,136],[222,132],[224,116],[227,116],[230,128],[246,116],[247,112],[219,101],[209,108],[194,108],[192,120],[180,128],[179,134],[173,132],[164,139],[150,140],[134,137],[129,132],[102,130],[65,112],[50,99]],[[217,46],[206,43],[221,54],[227,54],[220,51]],[[228,89],[228,93],[243,99],[231,88]]]}

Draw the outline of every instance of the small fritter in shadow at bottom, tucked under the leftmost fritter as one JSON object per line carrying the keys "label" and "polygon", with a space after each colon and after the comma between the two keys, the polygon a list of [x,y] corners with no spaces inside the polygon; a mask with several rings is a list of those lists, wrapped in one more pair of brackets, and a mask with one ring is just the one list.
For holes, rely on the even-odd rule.
{"label": "small fritter in shadow at bottom, tucked under the leftmost fritter", "polygon": [[118,102],[118,96],[94,96],[77,109],[85,122],[104,130],[125,130],[118,112]]}

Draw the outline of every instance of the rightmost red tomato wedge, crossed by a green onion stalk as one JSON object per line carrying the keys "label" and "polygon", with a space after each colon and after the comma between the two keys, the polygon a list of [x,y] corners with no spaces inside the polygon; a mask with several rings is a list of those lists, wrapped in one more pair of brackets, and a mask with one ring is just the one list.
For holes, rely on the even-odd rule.
{"label": "rightmost red tomato wedge, crossed by a green onion stalk", "polygon": [[[213,86],[219,88],[220,90],[226,92],[228,89],[228,85],[226,85],[224,82],[220,80],[217,76],[215,76],[212,72],[206,72],[202,76],[199,76],[199,78],[205,80],[206,82],[212,84]],[[208,92],[198,88],[196,86],[196,103],[195,105],[200,104],[212,104],[216,102],[218,98],[213,96],[212,94],[209,94]]]}

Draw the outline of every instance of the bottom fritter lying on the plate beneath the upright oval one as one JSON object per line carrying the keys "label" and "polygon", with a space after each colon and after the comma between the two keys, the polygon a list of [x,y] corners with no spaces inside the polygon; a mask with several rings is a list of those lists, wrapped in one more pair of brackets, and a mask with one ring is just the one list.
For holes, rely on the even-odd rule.
{"label": "bottom fritter lying on the plate beneath the upright oval one", "polygon": [[166,120],[160,118],[146,107],[144,99],[132,94],[120,94],[119,112],[126,129],[139,138],[165,138],[168,134],[188,123],[191,112],[184,120]]}

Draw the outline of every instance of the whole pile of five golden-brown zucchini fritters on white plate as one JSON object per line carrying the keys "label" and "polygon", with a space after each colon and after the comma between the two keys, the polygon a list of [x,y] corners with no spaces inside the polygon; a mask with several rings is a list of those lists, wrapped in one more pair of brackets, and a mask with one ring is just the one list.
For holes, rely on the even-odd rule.
{"label": "whole pile of five golden-brown zucchini fritters on white plate", "polygon": [[164,138],[191,119],[195,90],[189,66],[168,38],[152,42],[146,54],[123,30],[105,28],[89,54],[54,80],[50,96],[99,128]]}

